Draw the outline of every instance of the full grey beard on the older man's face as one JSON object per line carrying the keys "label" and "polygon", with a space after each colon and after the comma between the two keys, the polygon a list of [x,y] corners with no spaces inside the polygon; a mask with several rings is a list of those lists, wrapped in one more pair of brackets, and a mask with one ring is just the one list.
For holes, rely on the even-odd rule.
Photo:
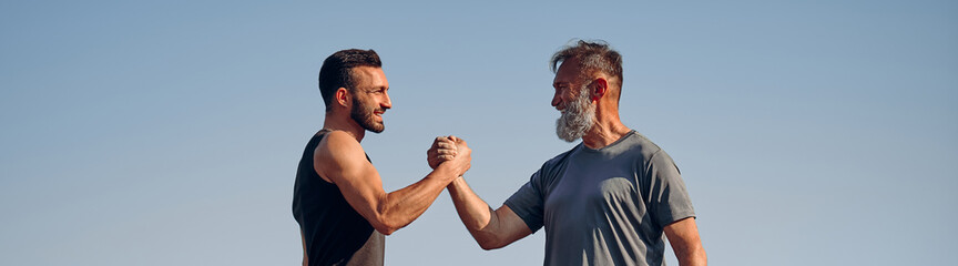
{"label": "full grey beard on the older man's face", "polygon": [[589,101],[589,93],[580,91],[574,102],[565,104],[562,116],[556,120],[556,134],[565,142],[573,142],[585,135],[595,122],[595,105]]}

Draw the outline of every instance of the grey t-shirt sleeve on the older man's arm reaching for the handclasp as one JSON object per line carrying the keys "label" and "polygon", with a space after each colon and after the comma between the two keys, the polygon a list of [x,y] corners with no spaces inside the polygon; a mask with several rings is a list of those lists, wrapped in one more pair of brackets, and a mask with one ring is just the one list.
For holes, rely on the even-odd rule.
{"label": "grey t-shirt sleeve on the older man's arm reaching for the handclasp", "polygon": [[546,213],[543,207],[546,194],[541,190],[541,175],[542,170],[539,170],[532,174],[529,182],[519,187],[519,191],[512,194],[509,200],[506,200],[506,206],[519,215],[532,233],[542,228],[542,217]]}

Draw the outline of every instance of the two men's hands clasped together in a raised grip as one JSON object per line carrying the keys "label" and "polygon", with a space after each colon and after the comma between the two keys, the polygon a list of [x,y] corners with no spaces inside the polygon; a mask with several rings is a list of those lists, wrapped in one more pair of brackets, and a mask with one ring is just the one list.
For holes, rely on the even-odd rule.
{"label": "two men's hands clasped together in a raised grip", "polygon": [[457,176],[461,176],[472,166],[472,149],[469,149],[462,139],[451,135],[437,136],[429,151],[426,151],[426,161],[434,170],[440,164],[450,164]]}

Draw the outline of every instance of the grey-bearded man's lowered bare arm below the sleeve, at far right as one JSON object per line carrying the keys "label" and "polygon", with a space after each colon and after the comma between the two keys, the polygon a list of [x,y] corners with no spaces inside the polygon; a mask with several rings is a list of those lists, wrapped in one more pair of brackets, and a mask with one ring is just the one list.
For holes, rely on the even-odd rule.
{"label": "grey-bearded man's lowered bare arm below the sleeve, at far right", "polygon": [[665,237],[669,237],[669,243],[672,244],[675,257],[679,258],[679,265],[699,266],[707,264],[705,249],[702,248],[702,241],[699,238],[699,226],[695,225],[694,218],[680,219],[666,225],[663,229]]}

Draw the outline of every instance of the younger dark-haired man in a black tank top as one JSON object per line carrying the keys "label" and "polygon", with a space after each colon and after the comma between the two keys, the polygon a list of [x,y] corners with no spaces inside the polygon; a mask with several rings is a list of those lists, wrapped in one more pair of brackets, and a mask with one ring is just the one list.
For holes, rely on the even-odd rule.
{"label": "younger dark-haired man in a black tank top", "polygon": [[293,191],[303,265],[383,265],[385,235],[419,217],[469,170],[471,152],[465,142],[438,143],[445,152],[430,153],[431,173],[386,193],[359,144],[366,131],[383,132],[383,113],[393,106],[379,55],[356,49],[329,55],[319,70],[319,91],[326,120],[303,151]]}

